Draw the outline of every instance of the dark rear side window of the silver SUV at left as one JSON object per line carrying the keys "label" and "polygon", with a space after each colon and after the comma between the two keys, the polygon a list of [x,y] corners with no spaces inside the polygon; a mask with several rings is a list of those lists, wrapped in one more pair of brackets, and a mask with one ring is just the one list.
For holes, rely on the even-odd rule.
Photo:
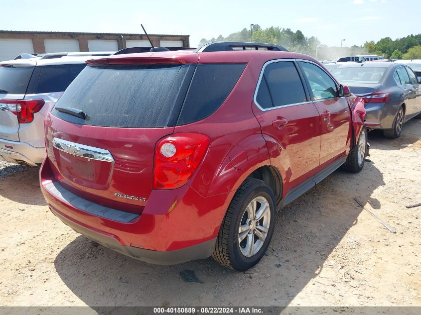
{"label": "dark rear side window of the silver SUV at left", "polygon": [[64,92],[85,66],[85,63],[39,66],[41,73],[35,93]]}

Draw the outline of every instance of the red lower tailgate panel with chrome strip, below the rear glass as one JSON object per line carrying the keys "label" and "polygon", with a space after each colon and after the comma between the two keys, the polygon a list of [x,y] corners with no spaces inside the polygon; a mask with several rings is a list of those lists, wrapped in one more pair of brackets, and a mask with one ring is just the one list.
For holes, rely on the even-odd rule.
{"label": "red lower tailgate panel with chrome strip, below the rear glass", "polygon": [[52,115],[47,155],[65,188],[96,204],[140,213],[152,190],[155,143],[168,128],[80,126]]}

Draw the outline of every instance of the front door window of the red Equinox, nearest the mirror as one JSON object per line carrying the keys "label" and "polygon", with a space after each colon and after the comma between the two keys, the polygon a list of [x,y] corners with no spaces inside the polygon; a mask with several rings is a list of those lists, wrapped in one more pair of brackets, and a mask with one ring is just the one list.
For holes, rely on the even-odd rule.
{"label": "front door window of the red Equinox, nearest the mirror", "polygon": [[313,101],[339,97],[339,91],[335,81],[320,67],[308,62],[300,62],[300,66],[310,83]]}

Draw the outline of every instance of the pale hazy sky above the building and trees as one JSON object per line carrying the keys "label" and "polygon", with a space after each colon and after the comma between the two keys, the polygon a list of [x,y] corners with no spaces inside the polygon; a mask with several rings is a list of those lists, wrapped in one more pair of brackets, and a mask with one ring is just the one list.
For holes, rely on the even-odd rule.
{"label": "pale hazy sky above the building and trees", "polygon": [[401,0],[5,0],[0,29],[227,36],[259,24],[301,30],[322,44],[363,45],[421,33],[420,1]]}

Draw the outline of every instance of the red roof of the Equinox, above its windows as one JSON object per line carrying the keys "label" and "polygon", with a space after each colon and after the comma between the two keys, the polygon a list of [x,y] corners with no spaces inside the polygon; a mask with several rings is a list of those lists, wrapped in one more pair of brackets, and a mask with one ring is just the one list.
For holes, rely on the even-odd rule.
{"label": "red roof of the Equinox, above its windows", "polygon": [[[273,50],[234,50],[215,52],[194,52],[194,51],[165,51],[152,53],[134,53],[113,55],[89,60],[88,64],[114,64],[114,63],[141,63],[154,61],[155,63],[248,63],[252,59],[269,61],[275,59],[304,59],[319,63],[314,58],[289,51]],[[149,61],[148,61],[149,60]]]}

